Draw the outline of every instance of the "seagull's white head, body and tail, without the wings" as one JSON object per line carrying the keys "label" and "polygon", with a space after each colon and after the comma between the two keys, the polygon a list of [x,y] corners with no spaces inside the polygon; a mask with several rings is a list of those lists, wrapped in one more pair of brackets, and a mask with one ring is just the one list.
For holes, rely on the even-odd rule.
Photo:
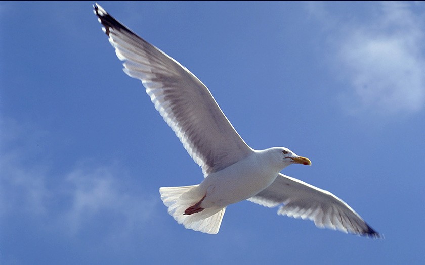
{"label": "seagull's white head, body and tail, without the wings", "polygon": [[[218,233],[226,206],[252,198],[269,187],[286,166],[311,164],[287,148],[274,147],[251,153],[238,162],[205,176],[194,186],[162,187],[161,199],[168,213],[186,228]],[[188,209],[193,212],[188,213]]]}

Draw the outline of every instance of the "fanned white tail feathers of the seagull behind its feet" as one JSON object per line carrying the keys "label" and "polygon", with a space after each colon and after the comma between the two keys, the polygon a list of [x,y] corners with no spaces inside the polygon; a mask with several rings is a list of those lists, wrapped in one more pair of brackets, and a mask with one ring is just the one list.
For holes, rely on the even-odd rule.
{"label": "fanned white tail feathers of the seagull behind its feet", "polygon": [[174,217],[179,224],[188,229],[208,234],[217,234],[226,207],[205,208],[199,213],[185,215],[185,210],[199,202],[205,194],[198,194],[194,186],[162,187],[159,189],[161,200],[168,207],[168,214]]}

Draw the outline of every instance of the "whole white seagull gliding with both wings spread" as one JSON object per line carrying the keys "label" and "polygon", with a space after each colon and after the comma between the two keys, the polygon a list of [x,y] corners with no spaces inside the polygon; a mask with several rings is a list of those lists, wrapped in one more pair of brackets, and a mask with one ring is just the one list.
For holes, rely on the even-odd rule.
{"label": "whole white seagull gliding with both wings spread", "polygon": [[118,59],[124,61],[123,71],[142,81],[155,109],[202,168],[204,179],[198,185],[159,189],[179,224],[217,234],[226,207],[248,200],[278,207],[278,215],[312,220],[319,228],[381,237],[332,193],[280,173],[291,164],[311,165],[308,158],[285,147],[249,147],[194,74],[97,3],[93,7]]}

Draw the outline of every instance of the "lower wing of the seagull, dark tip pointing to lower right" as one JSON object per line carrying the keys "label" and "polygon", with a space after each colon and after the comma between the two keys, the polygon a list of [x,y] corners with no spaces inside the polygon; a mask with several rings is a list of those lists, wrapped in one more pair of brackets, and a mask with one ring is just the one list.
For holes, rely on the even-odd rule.
{"label": "lower wing of the seagull, dark tip pointing to lower right", "polygon": [[347,203],[332,193],[281,173],[268,188],[248,200],[270,208],[280,206],[278,215],[310,219],[320,228],[381,237]]}

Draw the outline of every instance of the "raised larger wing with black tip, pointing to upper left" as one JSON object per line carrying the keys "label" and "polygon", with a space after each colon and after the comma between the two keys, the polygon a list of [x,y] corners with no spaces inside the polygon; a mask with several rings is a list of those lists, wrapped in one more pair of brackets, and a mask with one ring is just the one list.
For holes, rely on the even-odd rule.
{"label": "raised larger wing with black tip, pointing to upper left", "polygon": [[252,152],[196,76],[115,20],[98,4],[94,12],[117,57],[125,61],[124,72],[142,81],[156,110],[202,168],[204,176]]}

